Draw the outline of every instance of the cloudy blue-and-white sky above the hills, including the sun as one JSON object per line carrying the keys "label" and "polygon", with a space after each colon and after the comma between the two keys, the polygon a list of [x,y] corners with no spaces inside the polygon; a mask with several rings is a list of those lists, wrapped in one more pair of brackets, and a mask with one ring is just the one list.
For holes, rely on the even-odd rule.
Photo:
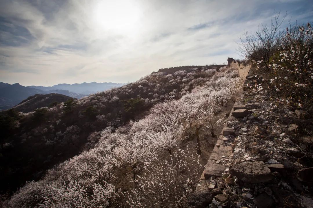
{"label": "cloudy blue-and-white sky above the hills, including the sun", "polygon": [[0,81],[127,83],[227,62],[274,12],[311,22],[311,0],[0,0]]}

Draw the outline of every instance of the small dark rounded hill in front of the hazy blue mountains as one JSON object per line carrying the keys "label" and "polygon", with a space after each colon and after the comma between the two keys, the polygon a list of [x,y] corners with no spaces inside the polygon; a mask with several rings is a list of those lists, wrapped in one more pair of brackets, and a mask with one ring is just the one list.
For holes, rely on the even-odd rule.
{"label": "small dark rounded hill in front of the hazy blue mountains", "polygon": [[58,103],[67,101],[68,99],[72,98],[63,94],[35,94],[23,100],[21,103],[16,105],[14,109],[23,113],[28,113],[36,108],[53,107]]}

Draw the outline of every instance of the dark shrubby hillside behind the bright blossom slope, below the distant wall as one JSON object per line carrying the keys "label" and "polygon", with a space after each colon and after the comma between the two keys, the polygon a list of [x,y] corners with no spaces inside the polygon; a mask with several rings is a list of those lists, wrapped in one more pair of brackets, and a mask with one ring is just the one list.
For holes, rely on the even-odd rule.
{"label": "dark shrubby hillside behind the bright blossom slope, below the distant wall", "polygon": [[38,180],[53,165],[93,148],[102,129],[114,131],[131,119],[142,118],[158,102],[189,94],[216,71],[209,67],[153,73],[119,88],[27,114],[14,109],[2,112],[1,191],[15,191],[25,181]]}

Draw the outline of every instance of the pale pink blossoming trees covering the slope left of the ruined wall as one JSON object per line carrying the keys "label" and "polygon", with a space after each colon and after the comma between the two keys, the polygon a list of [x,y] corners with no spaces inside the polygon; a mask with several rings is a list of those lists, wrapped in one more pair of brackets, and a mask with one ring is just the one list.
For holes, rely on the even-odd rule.
{"label": "pale pink blossoming trees covering the slope left of the ruined wall", "polygon": [[[206,147],[200,145],[197,132],[212,127],[214,131],[214,126],[223,123],[216,113],[239,94],[241,81],[228,67],[151,76],[151,80],[164,79],[169,88],[180,82],[179,90],[176,87],[165,94],[164,88],[155,86],[151,99],[139,99],[145,104],[156,103],[147,114],[116,129],[102,125],[103,130],[89,136],[99,138],[91,142],[92,148],[50,169],[43,179],[28,182],[3,206],[186,207],[187,195],[195,190],[204,168],[200,157]],[[184,83],[192,83],[193,89]],[[151,93],[148,80],[136,84],[141,93]],[[114,90],[130,89],[125,86]],[[108,104],[116,105],[127,98],[127,94],[114,96],[114,90],[105,92],[105,97],[95,94],[75,101],[76,108],[100,108],[105,103],[106,109]],[[64,114],[66,108],[63,104],[49,111]],[[100,126],[109,117],[99,112],[96,116]],[[111,122],[118,123],[119,119]],[[73,139],[80,132],[77,128],[67,127],[65,137]],[[197,136],[195,144],[186,139],[190,131]]]}

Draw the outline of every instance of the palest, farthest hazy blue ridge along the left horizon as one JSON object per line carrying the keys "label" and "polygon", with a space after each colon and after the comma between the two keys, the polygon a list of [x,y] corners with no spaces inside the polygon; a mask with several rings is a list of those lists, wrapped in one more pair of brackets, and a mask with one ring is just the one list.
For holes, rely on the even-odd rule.
{"label": "palest, farthest hazy blue ridge along the left horizon", "polygon": [[[53,85],[51,87],[44,87],[44,86],[29,86],[32,88],[40,89],[43,91],[50,91],[51,90],[68,90],[73,93],[77,94],[92,94],[92,93],[97,93],[97,92],[102,92],[107,89],[111,89],[113,87],[120,87],[124,84],[120,83],[111,83],[111,82],[103,82],[103,83],[97,83],[97,82],[91,82],[91,83],[81,83],[81,84],[58,84],[58,85]],[[63,94],[63,93],[62,93]],[[73,97],[73,96],[72,96]]]}

